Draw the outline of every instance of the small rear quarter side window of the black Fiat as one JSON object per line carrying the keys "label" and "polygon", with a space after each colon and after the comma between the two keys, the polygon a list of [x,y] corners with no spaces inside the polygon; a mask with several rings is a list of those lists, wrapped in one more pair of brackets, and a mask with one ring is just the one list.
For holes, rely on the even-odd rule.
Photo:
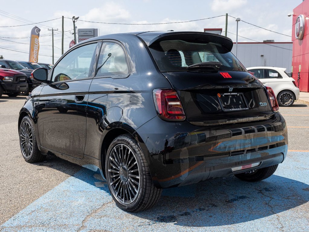
{"label": "small rear quarter side window of the black Fiat", "polygon": [[102,44],[95,76],[129,74],[124,50],[119,44],[105,42]]}

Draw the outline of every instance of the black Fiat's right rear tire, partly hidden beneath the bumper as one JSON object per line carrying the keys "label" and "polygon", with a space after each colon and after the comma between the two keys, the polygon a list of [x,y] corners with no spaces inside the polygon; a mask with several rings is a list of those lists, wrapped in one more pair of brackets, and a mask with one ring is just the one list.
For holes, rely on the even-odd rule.
{"label": "black Fiat's right rear tire, partly hidden beneath the bumper", "polygon": [[273,175],[273,173],[277,170],[278,164],[264,167],[261,169],[256,169],[253,171],[248,171],[244,173],[235,174],[238,179],[248,181],[248,182],[256,182],[263,179],[268,178],[269,176]]}

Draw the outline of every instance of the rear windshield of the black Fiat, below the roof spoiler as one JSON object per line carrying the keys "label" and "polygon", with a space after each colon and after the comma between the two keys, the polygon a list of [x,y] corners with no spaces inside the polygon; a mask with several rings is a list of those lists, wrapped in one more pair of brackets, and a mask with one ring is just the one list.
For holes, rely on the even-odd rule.
{"label": "rear windshield of the black Fiat, below the roof spoiler", "polygon": [[219,70],[246,72],[231,52],[212,42],[164,40],[149,49],[161,72],[188,71],[188,66],[201,62],[220,62]]}

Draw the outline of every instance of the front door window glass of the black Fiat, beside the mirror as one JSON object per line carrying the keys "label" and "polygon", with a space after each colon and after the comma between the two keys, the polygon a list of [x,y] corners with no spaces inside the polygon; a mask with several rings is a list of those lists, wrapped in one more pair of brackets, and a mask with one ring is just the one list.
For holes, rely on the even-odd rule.
{"label": "front door window glass of the black Fiat, beside the mirror", "polygon": [[53,70],[52,82],[92,77],[97,43],[87,44],[68,53]]}

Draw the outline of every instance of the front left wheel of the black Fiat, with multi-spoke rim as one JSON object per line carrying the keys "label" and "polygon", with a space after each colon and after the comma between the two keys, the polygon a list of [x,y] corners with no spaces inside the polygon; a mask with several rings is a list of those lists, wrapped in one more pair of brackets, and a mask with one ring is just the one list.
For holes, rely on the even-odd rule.
{"label": "front left wheel of the black Fiat, with multi-spoke rim", "polygon": [[23,117],[19,127],[19,145],[23,158],[29,162],[40,162],[44,155],[40,153],[36,143],[33,123],[29,116]]}

